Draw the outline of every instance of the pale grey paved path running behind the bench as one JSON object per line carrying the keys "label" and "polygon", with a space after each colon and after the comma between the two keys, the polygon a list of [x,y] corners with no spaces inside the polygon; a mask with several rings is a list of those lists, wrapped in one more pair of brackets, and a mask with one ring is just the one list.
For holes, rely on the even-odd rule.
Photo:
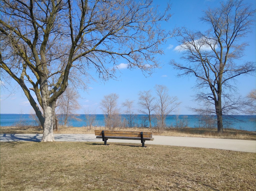
{"label": "pale grey paved path running behind the bench", "polygon": [[[96,139],[94,134],[54,134],[55,141],[90,141],[104,142],[102,139]],[[0,141],[36,141],[40,142],[42,134],[0,134]],[[215,139],[200,137],[171,137],[171,136],[153,136],[153,141],[146,141],[145,146],[153,145],[171,145],[182,147],[201,147],[212,149],[224,149],[243,152],[256,152],[256,141],[237,140],[237,139]],[[108,142],[118,143],[137,143],[138,140],[109,139]]]}

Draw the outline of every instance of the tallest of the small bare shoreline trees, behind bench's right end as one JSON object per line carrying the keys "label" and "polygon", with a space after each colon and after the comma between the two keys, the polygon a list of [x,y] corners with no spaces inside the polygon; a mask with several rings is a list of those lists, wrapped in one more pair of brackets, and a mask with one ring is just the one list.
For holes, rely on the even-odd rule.
{"label": "tallest of the small bare shoreline trees, behind bench's right end", "polygon": [[163,85],[155,85],[156,105],[155,116],[157,120],[157,128],[160,133],[166,127],[165,120],[167,115],[174,111],[180,104],[177,102],[177,97],[171,97],[168,93],[168,88]]}

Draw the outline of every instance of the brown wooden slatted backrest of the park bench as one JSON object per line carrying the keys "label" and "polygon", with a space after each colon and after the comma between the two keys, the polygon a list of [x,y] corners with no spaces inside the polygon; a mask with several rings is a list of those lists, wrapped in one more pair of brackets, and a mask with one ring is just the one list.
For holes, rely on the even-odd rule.
{"label": "brown wooden slatted backrest of the park bench", "polygon": [[[103,130],[94,130],[95,135],[102,136]],[[141,137],[141,132],[143,132],[144,138],[152,138],[151,131],[118,131],[118,130],[104,130],[105,136],[111,137]]]}

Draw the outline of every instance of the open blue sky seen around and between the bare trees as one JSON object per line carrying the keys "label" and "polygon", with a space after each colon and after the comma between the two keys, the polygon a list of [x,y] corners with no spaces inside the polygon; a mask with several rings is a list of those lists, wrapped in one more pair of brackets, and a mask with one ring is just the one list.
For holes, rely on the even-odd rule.
{"label": "open blue sky seen around and between the bare trees", "polygon": [[[255,1],[248,0],[248,3],[253,4],[255,8]],[[166,5],[167,1],[155,1],[155,4],[159,4],[160,10]],[[174,26],[177,27],[187,27],[192,30],[207,30],[208,26],[199,20],[199,17],[203,15],[202,10],[208,7],[216,7],[219,5],[219,1],[215,0],[193,0],[193,1],[172,1],[171,13],[172,18],[168,23],[162,23],[162,27],[166,30],[171,30]],[[244,60],[255,62],[255,25],[252,28],[252,33],[244,39],[249,46],[245,50]],[[155,72],[149,76],[145,77],[139,69],[126,69],[120,67],[120,73],[116,76],[120,76],[117,80],[109,80],[105,83],[103,82],[92,82],[89,85],[88,92],[80,92],[82,99],[79,103],[83,107],[91,107],[96,109],[97,114],[101,114],[102,111],[99,108],[99,103],[104,95],[109,93],[117,93],[119,95],[119,104],[126,100],[135,100],[134,108],[137,109],[137,93],[143,90],[149,90],[154,88],[155,84],[165,85],[169,89],[169,94],[171,96],[177,96],[181,103],[179,107],[179,114],[193,114],[186,107],[196,106],[196,103],[192,102],[192,97],[196,90],[192,87],[195,85],[194,77],[182,77],[177,78],[177,71],[174,70],[168,63],[171,59],[180,61],[180,54],[174,51],[174,48],[178,45],[175,38],[168,39],[162,48],[165,55],[158,55],[162,63],[162,68],[156,69]],[[184,62],[184,61],[180,61]],[[123,63],[120,61],[120,64]],[[125,64],[125,63],[124,63]],[[97,79],[97,78],[96,78]],[[256,87],[256,77],[254,76],[241,76],[237,77],[237,88],[238,92],[242,96],[246,96],[252,89]],[[16,84],[14,83],[13,87]],[[23,113],[30,113],[32,107],[30,106],[27,98],[22,92],[21,88],[15,87],[15,91],[10,95],[8,91],[4,91],[1,88],[1,105],[0,113],[20,113],[23,109]],[[79,110],[77,113],[82,114],[83,111]]]}

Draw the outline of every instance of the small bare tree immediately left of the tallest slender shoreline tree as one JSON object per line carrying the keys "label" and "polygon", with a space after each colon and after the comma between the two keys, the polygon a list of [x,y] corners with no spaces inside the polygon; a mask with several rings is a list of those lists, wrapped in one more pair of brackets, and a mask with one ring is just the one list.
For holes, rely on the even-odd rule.
{"label": "small bare tree immediately left of the tallest slender shoreline tree", "polygon": [[140,91],[138,93],[138,96],[139,96],[138,105],[139,105],[139,108],[140,108],[139,112],[142,113],[142,114],[147,115],[147,118],[148,118],[148,121],[149,121],[149,127],[151,128],[152,127],[151,115],[152,115],[152,112],[155,109],[155,103],[154,103],[155,97],[152,96],[151,90]]}

